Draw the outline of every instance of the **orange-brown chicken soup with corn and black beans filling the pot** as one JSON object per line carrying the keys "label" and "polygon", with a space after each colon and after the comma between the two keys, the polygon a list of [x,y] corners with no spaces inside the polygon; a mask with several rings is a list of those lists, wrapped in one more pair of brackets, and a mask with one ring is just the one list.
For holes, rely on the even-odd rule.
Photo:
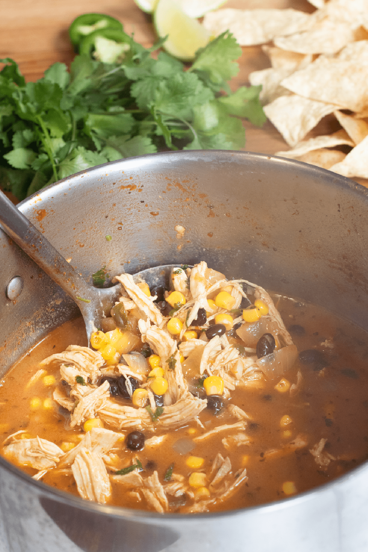
{"label": "orange-brown chicken soup with corn and black beans filling the pot", "polygon": [[295,495],[367,458],[364,331],[205,262],[173,269],[170,290],[116,280],[93,349],[83,321],[67,322],[1,382],[2,454],[34,479],[207,512]]}

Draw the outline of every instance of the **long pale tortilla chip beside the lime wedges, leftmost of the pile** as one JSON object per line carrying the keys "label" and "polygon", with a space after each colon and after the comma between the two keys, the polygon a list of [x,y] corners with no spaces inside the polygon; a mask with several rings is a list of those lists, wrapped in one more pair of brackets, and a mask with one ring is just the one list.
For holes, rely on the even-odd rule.
{"label": "long pale tortilla chip beside the lime wedges, leftmost of the pile", "polygon": [[206,13],[203,25],[216,36],[230,30],[241,46],[252,46],[308,29],[310,18],[295,9],[226,8]]}

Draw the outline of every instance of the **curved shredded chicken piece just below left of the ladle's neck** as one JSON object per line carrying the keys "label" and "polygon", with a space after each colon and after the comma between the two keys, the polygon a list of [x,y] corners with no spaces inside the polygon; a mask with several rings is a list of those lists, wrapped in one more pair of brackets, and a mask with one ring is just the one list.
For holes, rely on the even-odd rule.
{"label": "curved shredded chicken piece just below left of the ladle's neck", "polygon": [[79,370],[79,374],[84,380],[90,380],[90,383],[96,383],[98,376],[101,375],[99,368],[105,364],[102,354],[98,351],[92,351],[88,347],[79,347],[70,345],[63,353],[52,354],[40,362],[40,366],[48,366],[57,363],[73,364]]}

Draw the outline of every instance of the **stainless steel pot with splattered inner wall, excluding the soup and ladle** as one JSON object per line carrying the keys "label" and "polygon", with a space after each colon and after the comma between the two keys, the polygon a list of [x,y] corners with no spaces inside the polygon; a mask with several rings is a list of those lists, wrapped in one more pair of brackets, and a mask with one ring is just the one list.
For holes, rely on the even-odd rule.
{"label": "stainless steel pot with splattered inner wall, excluding the soup and ladle", "polygon": [[[347,178],[296,161],[180,151],[88,169],[19,209],[88,281],[104,265],[115,275],[204,259],[368,328],[367,194]],[[1,231],[0,267],[3,376],[77,307]],[[14,277],[23,290],[10,300]],[[79,500],[0,458],[4,552],[366,552],[367,517],[367,465],[270,505],[162,516]]]}

